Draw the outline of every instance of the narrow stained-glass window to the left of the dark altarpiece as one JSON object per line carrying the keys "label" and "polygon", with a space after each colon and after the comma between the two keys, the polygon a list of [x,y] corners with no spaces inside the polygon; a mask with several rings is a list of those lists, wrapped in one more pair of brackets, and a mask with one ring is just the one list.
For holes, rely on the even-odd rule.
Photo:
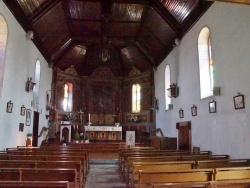
{"label": "narrow stained-glass window to the left of the dark altarpiece", "polygon": [[63,110],[64,111],[72,111],[72,91],[73,84],[66,83],[64,85],[64,98],[63,98]]}

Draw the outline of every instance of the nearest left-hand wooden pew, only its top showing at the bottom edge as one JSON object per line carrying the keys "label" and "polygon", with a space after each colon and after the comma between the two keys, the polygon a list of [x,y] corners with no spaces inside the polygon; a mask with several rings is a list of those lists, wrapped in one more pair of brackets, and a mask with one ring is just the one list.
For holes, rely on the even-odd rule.
{"label": "nearest left-hand wooden pew, only its top showing at the bottom edge", "polygon": [[69,188],[68,181],[2,181],[0,187],[4,188]]}

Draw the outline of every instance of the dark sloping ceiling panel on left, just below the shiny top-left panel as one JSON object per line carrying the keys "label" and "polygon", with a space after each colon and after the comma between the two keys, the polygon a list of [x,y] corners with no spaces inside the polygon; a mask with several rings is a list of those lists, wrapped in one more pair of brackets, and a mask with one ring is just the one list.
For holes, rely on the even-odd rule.
{"label": "dark sloping ceiling panel on left, just below the shiny top-left panel", "polygon": [[[49,37],[52,32],[58,30],[59,27],[61,28],[61,25],[64,25],[64,28],[68,28],[62,4],[58,3],[54,8],[34,23],[33,29],[43,41]],[[65,29],[64,32],[69,34],[68,29]]]}

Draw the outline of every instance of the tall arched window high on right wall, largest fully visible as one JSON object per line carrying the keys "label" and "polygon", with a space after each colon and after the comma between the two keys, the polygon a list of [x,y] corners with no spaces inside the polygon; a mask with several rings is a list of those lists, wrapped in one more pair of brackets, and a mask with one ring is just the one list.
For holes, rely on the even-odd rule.
{"label": "tall arched window high on right wall, largest fully visible", "polygon": [[210,31],[204,27],[198,38],[200,96],[201,99],[213,95],[214,76]]}

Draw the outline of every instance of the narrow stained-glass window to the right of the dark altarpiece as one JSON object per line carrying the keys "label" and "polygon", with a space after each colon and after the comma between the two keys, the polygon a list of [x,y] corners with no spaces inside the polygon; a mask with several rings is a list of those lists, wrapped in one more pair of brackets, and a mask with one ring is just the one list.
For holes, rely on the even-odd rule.
{"label": "narrow stained-glass window to the right of the dark altarpiece", "polygon": [[141,86],[133,84],[132,86],[132,112],[140,112],[141,110]]}

